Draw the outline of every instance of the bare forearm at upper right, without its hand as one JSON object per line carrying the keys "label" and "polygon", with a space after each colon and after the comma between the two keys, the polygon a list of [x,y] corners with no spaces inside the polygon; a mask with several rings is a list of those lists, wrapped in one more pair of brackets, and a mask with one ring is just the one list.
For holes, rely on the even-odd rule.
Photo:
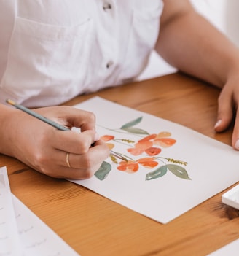
{"label": "bare forearm at upper right, without its hand", "polygon": [[192,9],[162,21],[156,50],[177,69],[219,87],[239,70],[238,48]]}

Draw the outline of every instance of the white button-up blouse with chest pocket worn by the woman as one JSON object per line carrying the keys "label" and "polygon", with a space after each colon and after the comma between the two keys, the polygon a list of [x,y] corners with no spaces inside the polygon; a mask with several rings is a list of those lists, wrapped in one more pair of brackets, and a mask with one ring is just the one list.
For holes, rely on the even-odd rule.
{"label": "white button-up blouse with chest pocket worn by the woman", "polygon": [[50,106],[144,70],[162,0],[0,1],[0,103]]}

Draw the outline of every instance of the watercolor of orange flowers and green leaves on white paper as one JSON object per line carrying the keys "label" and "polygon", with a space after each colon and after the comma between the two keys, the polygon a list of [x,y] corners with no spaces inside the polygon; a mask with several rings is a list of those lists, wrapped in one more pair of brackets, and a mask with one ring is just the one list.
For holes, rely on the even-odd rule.
{"label": "watercolor of orange flowers and green leaves on white paper", "polygon": [[[128,174],[136,173],[140,167],[152,169],[152,171],[147,172],[146,181],[160,178],[167,174],[167,171],[171,171],[172,174],[181,179],[190,179],[187,170],[184,168],[184,166],[187,166],[187,162],[164,158],[160,155],[162,149],[172,147],[176,143],[176,139],[171,138],[171,133],[168,131],[149,134],[144,129],[137,128],[136,125],[141,123],[142,119],[143,117],[138,117],[120,128],[114,129],[114,132],[119,133],[120,137],[115,137],[109,133],[101,136],[100,139],[106,141],[111,150],[111,163],[104,161],[101,168],[95,172],[95,177],[100,180],[106,179],[112,169],[112,164],[115,164],[118,171],[125,171]],[[112,131],[110,128],[108,130]],[[137,135],[140,139],[137,141],[124,139],[124,136],[122,136],[124,133]],[[125,145],[128,155],[113,151],[115,144],[118,143]],[[119,161],[116,155],[122,157],[123,160]]]}

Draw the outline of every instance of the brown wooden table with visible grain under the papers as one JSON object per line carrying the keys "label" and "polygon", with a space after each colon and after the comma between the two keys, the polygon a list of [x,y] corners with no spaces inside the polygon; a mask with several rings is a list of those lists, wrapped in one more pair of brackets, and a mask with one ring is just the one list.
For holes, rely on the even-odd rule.
{"label": "brown wooden table with visible grain under the papers", "polygon": [[[197,79],[171,74],[66,104],[95,95],[230,144],[232,128],[213,131],[219,89]],[[12,193],[82,256],[207,255],[239,238],[238,211],[221,203],[226,190],[162,225],[85,187],[39,174],[14,158],[0,155],[0,166],[7,166]]]}

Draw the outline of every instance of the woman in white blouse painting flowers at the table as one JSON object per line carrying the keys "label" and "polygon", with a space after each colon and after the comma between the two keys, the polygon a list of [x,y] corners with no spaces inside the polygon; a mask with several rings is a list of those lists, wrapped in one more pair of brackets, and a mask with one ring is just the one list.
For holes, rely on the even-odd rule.
{"label": "woman in white blouse painting flowers at the table", "polygon": [[[238,49],[187,0],[9,0],[0,3],[0,152],[52,177],[84,179],[109,155],[93,113],[58,105],[135,79],[152,50],[192,76],[222,88],[215,130],[235,114],[239,150]],[[160,69],[160,67],[159,67]],[[6,98],[82,133],[4,106]],[[94,143],[94,147],[90,147]]]}

